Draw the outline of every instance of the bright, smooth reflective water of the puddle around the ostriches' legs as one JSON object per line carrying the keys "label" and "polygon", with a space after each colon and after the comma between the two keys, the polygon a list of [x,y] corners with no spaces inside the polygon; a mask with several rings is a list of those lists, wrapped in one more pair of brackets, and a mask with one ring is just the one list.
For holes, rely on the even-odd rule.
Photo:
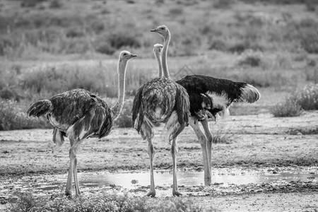
{"label": "bright, smooth reflective water of the puddle around the ostriches' legs", "polygon": [[[276,172],[275,172],[276,173]],[[172,184],[172,173],[168,171],[155,172],[156,186],[170,186]],[[305,181],[308,177],[318,178],[316,172],[310,174],[309,172],[280,172],[273,174],[273,172],[262,171],[246,171],[246,170],[216,170],[212,175],[212,183],[223,184],[261,184],[269,182],[290,182],[290,181]],[[204,184],[204,172],[178,172],[177,179],[179,185],[185,187],[199,186]],[[126,189],[134,189],[136,186],[148,186],[150,184],[149,172],[94,172],[81,173],[79,181],[84,186],[120,186]]]}

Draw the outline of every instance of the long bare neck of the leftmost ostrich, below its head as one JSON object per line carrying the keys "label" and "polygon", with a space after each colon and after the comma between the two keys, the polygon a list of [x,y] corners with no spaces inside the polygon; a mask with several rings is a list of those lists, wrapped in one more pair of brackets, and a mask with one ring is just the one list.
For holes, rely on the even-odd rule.
{"label": "long bare neck of the leftmost ostrich, below its head", "polygon": [[118,64],[118,100],[116,105],[110,110],[112,111],[113,119],[116,119],[119,116],[119,113],[122,111],[124,106],[125,98],[125,78],[126,78],[126,65],[127,61],[119,61]]}

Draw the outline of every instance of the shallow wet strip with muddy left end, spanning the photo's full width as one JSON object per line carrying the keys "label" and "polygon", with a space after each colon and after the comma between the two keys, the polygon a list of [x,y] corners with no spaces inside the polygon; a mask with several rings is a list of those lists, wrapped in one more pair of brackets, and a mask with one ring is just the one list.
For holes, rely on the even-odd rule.
{"label": "shallow wet strip with muddy left end, spanning the photo's full width", "polygon": [[[171,194],[172,172],[167,170],[155,171],[155,186],[158,194]],[[6,196],[14,191],[50,193],[63,192],[67,175],[32,175],[19,179],[4,179],[0,185],[0,196]],[[204,185],[204,172],[191,170],[177,173],[179,187],[197,187]],[[318,168],[285,168],[285,169],[218,169],[213,170],[212,183],[214,186],[229,187],[233,184],[285,184],[288,182],[307,182],[318,180]],[[146,194],[150,184],[150,173],[145,172],[79,172],[78,181],[82,191],[98,190],[101,188],[121,187],[128,190],[139,190]]]}

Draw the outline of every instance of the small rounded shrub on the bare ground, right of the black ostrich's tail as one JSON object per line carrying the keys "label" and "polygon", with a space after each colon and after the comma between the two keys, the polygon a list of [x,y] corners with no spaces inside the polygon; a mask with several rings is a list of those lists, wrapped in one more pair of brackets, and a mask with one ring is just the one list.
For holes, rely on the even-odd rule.
{"label": "small rounded shrub on the bare ground, right of the black ostrich's tail", "polygon": [[288,98],[285,102],[273,106],[271,113],[274,117],[298,117],[302,113],[302,107]]}

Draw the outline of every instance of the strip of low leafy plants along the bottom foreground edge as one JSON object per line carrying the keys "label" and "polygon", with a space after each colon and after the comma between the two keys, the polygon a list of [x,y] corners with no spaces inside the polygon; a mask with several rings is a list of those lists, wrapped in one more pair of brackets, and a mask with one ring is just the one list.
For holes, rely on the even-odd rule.
{"label": "strip of low leafy plants along the bottom foreground edge", "polygon": [[210,206],[198,206],[189,199],[149,199],[134,197],[128,192],[98,192],[90,196],[84,194],[74,201],[59,195],[51,196],[49,199],[43,196],[35,197],[29,193],[17,193],[16,196],[18,199],[9,208],[10,211],[217,211]]}

